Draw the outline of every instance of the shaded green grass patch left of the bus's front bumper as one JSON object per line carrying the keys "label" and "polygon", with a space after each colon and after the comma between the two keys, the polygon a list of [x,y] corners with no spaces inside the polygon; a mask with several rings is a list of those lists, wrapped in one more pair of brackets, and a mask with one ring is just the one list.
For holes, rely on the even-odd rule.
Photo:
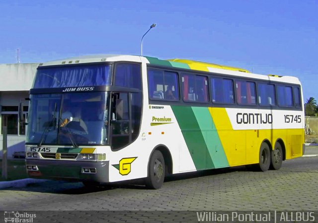
{"label": "shaded green grass patch left of the bus's front bumper", "polygon": [[7,161],[7,179],[2,177],[2,160],[0,160],[0,181],[9,181],[28,178],[25,170],[24,159],[13,159]]}

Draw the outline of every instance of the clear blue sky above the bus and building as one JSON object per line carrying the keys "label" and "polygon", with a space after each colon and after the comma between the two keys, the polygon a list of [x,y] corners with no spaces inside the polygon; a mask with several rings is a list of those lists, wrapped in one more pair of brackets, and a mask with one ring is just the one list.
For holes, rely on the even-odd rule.
{"label": "clear blue sky above the bus and building", "polygon": [[[298,77],[318,100],[318,0],[0,0],[0,63],[185,58]],[[3,80],[2,80],[3,81]]]}

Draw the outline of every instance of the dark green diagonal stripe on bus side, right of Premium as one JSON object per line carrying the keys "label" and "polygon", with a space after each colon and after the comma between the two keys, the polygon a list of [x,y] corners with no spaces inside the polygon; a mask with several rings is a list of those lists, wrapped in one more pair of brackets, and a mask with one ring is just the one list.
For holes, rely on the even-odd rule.
{"label": "dark green diagonal stripe on bus side, right of Premium", "polygon": [[196,169],[215,168],[191,107],[171,106]]}

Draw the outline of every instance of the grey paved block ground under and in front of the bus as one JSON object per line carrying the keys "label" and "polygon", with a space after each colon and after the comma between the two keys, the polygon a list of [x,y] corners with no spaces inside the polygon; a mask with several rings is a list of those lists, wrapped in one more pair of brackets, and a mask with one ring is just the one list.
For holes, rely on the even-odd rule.
{"label": "grey paved block ground under and in front of the bus", "polygon": [[185,215],[180,211],[198,210],[318,210],[318,156],[315,156],[318,147],[307,147],[306,155],[285,161],[278,171],[254,172],[233,167],[181,174],[169,177],[159,190],[147,190],[136,185],[141,183],[138,181],[130,185],[114,184],[111,189],[87,189],[81,183],[46,181],[1,190],[0,210],[174,210],[178,211],[177,217]]}

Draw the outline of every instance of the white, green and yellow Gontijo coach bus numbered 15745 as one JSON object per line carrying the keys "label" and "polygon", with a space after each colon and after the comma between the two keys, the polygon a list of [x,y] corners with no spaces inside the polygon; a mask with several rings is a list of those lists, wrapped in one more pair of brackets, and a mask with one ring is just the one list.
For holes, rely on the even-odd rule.
{"label": "white, green and yellow Gontijo coach bus numbered 15745", "polygon": [[[30,89],[26,170],[86,186],[243,166],[304,153],[297,77],[187,59],[97,55],[41,63]],[[21,112],[20,112],[21,113]]]}

